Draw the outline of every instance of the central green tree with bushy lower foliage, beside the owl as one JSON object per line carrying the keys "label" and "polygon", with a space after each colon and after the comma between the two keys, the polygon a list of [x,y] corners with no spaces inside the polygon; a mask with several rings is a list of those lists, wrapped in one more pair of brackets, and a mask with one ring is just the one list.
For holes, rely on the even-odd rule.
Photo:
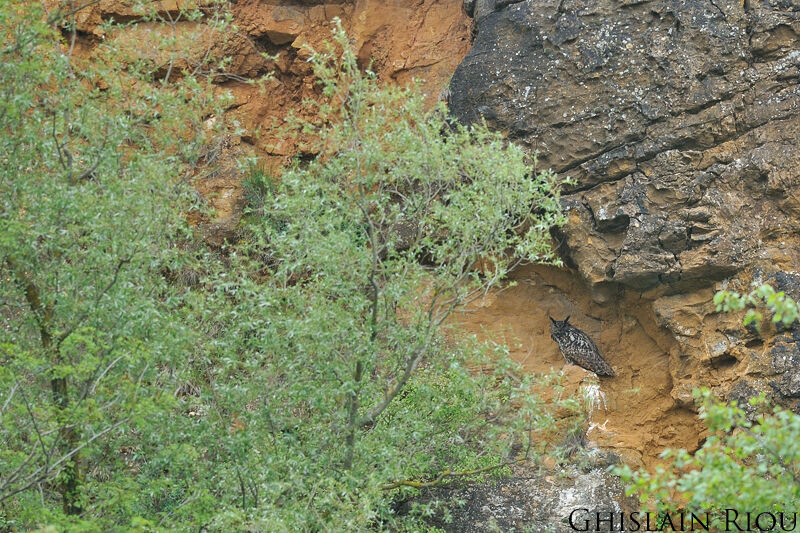
{"label": "central green tree with bushy lower foliage, beside the owl", "polygon": [[[381,86],[340,27],[311,63],[321,102],[292,126],[318,155],[249,181],[256,201],[231,260],[252,274],[217,285],[227,311],[208,323],[227,332],[213,410],[236,414],[248,429],[232,438],[271,465],[236,459],[264,487],[248,510],[259,527],[379,528],[393,520],[382,487],[500,464],[510,434],[550,422],[502,353],[474,374],[490,350],[443,333],[520,261],[555,261],[559,181],[485,126]],[[256,492],[240,500],[255,506]]]}

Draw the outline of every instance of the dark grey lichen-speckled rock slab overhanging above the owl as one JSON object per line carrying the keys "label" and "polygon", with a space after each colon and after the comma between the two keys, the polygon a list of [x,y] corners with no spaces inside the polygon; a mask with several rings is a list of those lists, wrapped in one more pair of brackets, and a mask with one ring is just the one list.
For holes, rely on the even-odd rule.
{"label": "dark grey lichen-speckled rock slab overhanging above the owl", "polygon": [[577,178],[561,236],[589,284],[709,286],[799,231],[796,2],[477,0],[474,17],[451,110]]}

